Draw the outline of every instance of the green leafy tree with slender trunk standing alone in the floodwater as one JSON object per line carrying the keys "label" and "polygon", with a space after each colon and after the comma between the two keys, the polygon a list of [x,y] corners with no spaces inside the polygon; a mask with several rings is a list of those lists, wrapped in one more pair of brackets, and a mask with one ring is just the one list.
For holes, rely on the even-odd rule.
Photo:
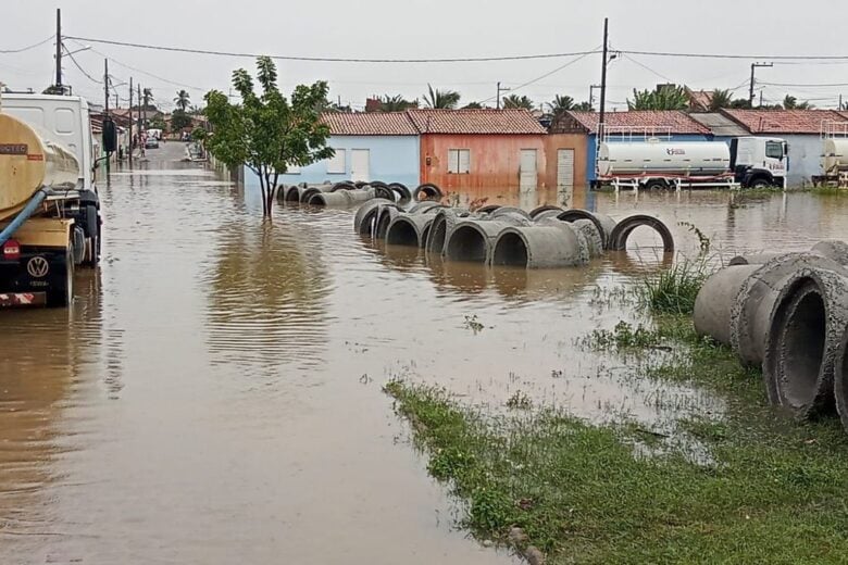
{"label": "green leafy tree with slender trunk standing alone in the floodwater", "polygon": [[327,147],[329,126],[317,110],[329,89],[324,80],[299,85],[289,101],[277,87],[277,68],[271,58],[260,56],[257,70],[260,93],[254,92],[247,71],[233,72],[233,87],[241,96],[239,104],[232,104],[219,90],[207,93],[212,133],[205,147],[227,166],[245,165],[259,177],[262,214],[271,219],[279,175],[291,165],[307,166],[335,154]]}

